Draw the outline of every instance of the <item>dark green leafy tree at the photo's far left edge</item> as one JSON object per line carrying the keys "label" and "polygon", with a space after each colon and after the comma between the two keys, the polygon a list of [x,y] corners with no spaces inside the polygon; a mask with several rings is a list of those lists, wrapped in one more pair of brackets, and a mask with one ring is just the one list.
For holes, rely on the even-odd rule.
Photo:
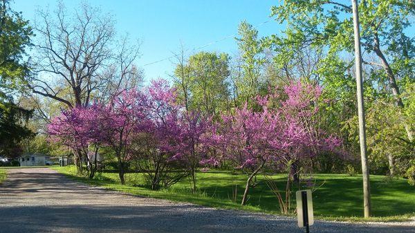
{"label": "dark green leafy tree at the photo's far left edge", "polygon": [[28,62],[24,60],[30,46],[32,29],[21,14],[10,9],[9,2],[0,2],[0,153],[17,156],[20,142],[33,136],[24,124],[33,111],[23,109],[12,100],[28,75]]}

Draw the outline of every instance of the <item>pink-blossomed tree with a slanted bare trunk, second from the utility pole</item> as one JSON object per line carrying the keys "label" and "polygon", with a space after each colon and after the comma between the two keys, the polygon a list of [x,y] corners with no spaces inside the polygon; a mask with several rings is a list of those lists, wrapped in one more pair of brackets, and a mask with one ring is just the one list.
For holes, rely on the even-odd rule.
{"label": "pink-blossomed tree with a slanted bare trunk, second from the utility pole", "polygon": [[222,122],[216,124],[212,144],[221,151],[221,160],[230,160],[236,169],[248,175],[241,205],[246,204],[252,179],[279,149],[280,128],[277,115],[266,106],[260,112],[253,112],[246,104],[243,109],[236,109],[234,115],[223,115]]}

